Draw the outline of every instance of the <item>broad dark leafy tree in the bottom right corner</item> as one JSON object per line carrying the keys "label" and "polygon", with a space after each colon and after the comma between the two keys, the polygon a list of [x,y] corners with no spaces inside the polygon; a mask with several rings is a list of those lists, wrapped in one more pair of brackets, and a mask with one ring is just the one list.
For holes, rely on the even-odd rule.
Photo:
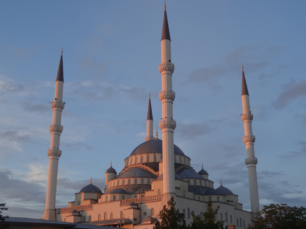
{"label": "broad dark leafy tree in the bottom right corner", "polygon": [[306,209],[286,204],[263,206],[253,220],[252,229],[305,229]]}

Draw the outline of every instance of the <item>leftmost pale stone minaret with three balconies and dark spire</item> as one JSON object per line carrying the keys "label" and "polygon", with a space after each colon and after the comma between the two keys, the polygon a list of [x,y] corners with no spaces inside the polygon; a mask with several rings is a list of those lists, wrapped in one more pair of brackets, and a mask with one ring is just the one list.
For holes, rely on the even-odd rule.
{"label": "leftmost pale stone minaret with three balconies and dark spire", "polygon": [[54,101],[51,102],[53,110],[52,125],[49,130],[51,133],[50,149],[47,154],[49,156],[49,171],[47,183],[47,197],[46,209],[43,214],[44,220],[56,220],[55,217],[55,198],[56,198],[56,184],[58,174],[58,158],[62,155],[59,149],[59,140],[63,131],[61,125],[62,111],[65,107],[63,99],[63,86],[64,86],[64,72],[63,72],[63,49],[61,53],[61,60],[59,61],[58,74],[55,81],[55,95]]}

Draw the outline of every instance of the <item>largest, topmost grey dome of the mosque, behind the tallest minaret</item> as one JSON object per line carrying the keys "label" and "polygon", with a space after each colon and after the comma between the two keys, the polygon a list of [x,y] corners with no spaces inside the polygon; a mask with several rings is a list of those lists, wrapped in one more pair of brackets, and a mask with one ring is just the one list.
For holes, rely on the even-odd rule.
{"label": "largest, topmost grey dome of the mosque, behind the tallest minaret", "polygon": [[[139,146],[137,146],[130,156],[136,155],[136,154],[147,154],[147,153],[162,153],[162,140],[160,139],[154,139],[150,141],[146,141]],[[174,154],[180,154],[184,155],[183,151],[174,145]]]}

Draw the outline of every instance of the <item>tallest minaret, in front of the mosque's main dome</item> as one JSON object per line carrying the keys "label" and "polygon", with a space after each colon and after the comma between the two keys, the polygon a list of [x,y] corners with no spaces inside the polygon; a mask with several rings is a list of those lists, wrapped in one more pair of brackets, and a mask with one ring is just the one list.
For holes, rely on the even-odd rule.
{"label": "tallest minaret, in front of the mosque's main dome", "polygon": [[172,91],[172,74],[174,64],[171,63],[171,39],[166,3],[164,9],[161,39],[162,63],[159,64],[159,72],[162,76],[162,91],[159,92],[159,99],[162,102],[162,120],[159,122],[159,128],[162,130],[162,168],[164,174],[162,203],[166,204],[171,196],[175,197],[173,133],[176,122],[173,120],[173,100],[175,93]]}

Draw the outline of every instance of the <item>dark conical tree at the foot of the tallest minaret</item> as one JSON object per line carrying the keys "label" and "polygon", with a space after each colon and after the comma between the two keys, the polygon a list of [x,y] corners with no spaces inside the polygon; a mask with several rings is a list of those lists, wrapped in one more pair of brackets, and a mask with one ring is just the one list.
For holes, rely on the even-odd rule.
{"label": "dark conical tree at the foot of the tallest minaret", "polygon": [[183,213],[180,213],[179,209],[175,208],[174,198],[167,202],[168,207],[164,205],[159,212],[159,218],[161,222],[157,221],[153,229],[185,229],[186,222]]}

